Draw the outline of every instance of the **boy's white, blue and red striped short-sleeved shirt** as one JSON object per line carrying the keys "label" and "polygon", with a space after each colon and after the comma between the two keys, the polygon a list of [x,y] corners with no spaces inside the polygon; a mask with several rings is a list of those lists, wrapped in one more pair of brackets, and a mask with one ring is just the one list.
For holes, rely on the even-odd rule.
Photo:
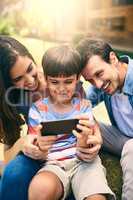
{"label": "boy's white, blue and red striped short-sleeved shirt", "polygon": [[[37,134],[36,127],[45,121],[55,121],[55,120],[66,120],[75,118],[76,115],[85,113],[88,118],[92,116],[91,106],[82,106],[81,100],[78,98],[73,98],[72,100],[73,108],[67,113],[57,113],[55,112],[48,98],[39,100],[32,105],[29,111],[28,129],[29,134]],[[58,139],[49,150],[48,160],[65,160],[71,159],[76,156],[76,137],[70,134],[58,135]]]}

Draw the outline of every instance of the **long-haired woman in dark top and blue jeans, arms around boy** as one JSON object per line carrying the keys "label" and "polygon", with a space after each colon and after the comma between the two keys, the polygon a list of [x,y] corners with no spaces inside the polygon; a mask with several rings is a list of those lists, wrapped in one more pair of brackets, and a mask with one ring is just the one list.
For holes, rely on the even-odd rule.
{"label": "long-haired woman in dark top and blue jeans, arms around boy", "polygon": [[[27,116],[32,101],[44,97],[46,84],[37,71],[34,59],[28,50],[17,40],[0,37],[0,140],[4,143],[6,163],[13,159],[2,175],[2,200],[26,200],[32,177],[45,160],[48,148],[56,136],[45,136],[45,152],[40,151],[34,141],[36,136],[20,137],[20,126],[24,123],[20,116]],[[89,126],[88,120],[82,124]],[[98,130],[99,131],[99,130]],[[88,160],[97,154],[101,146],[100,133],[94,136],[95,148],[79,148],[79,157]],[[26,156],[25,156],[26,155]],[[15,157],[16,156],[16,157]]]}

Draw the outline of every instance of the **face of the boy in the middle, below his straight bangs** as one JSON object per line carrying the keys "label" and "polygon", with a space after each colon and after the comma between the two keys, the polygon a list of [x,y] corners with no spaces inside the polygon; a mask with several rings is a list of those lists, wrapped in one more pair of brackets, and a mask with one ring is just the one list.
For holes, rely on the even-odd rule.
{"label": "face of the boy in the middle, below his straight bangs", "polygon": [[61,104],[69,103],[75,93],[77,82],[76,74],[68,77],[47,76],[47,86],[53,101]]}

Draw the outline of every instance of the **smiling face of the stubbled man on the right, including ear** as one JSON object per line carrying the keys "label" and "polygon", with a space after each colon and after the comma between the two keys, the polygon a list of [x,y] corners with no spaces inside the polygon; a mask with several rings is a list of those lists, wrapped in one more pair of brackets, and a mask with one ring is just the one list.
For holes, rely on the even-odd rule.
{"label": "smiling face of the stubbled man on the right, including ear", "polygon": [[82,75],[96,88],[113,94],[120,86],[118,62],[116,57],[113,62],[107,63],[100,56],[93,55],[84,67]]}

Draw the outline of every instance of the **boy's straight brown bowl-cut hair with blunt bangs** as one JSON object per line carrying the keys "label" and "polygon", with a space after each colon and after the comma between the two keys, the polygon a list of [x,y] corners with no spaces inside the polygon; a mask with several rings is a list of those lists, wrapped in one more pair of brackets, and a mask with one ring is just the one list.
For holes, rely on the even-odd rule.
{"label": "boy's straight brown bowl-cut hair with blunt bangs", "polygon": [[42,59],[46,76],[71,76],[81,72],[81,59],[76,49],[68,45],[60,45],[46,51]]}

